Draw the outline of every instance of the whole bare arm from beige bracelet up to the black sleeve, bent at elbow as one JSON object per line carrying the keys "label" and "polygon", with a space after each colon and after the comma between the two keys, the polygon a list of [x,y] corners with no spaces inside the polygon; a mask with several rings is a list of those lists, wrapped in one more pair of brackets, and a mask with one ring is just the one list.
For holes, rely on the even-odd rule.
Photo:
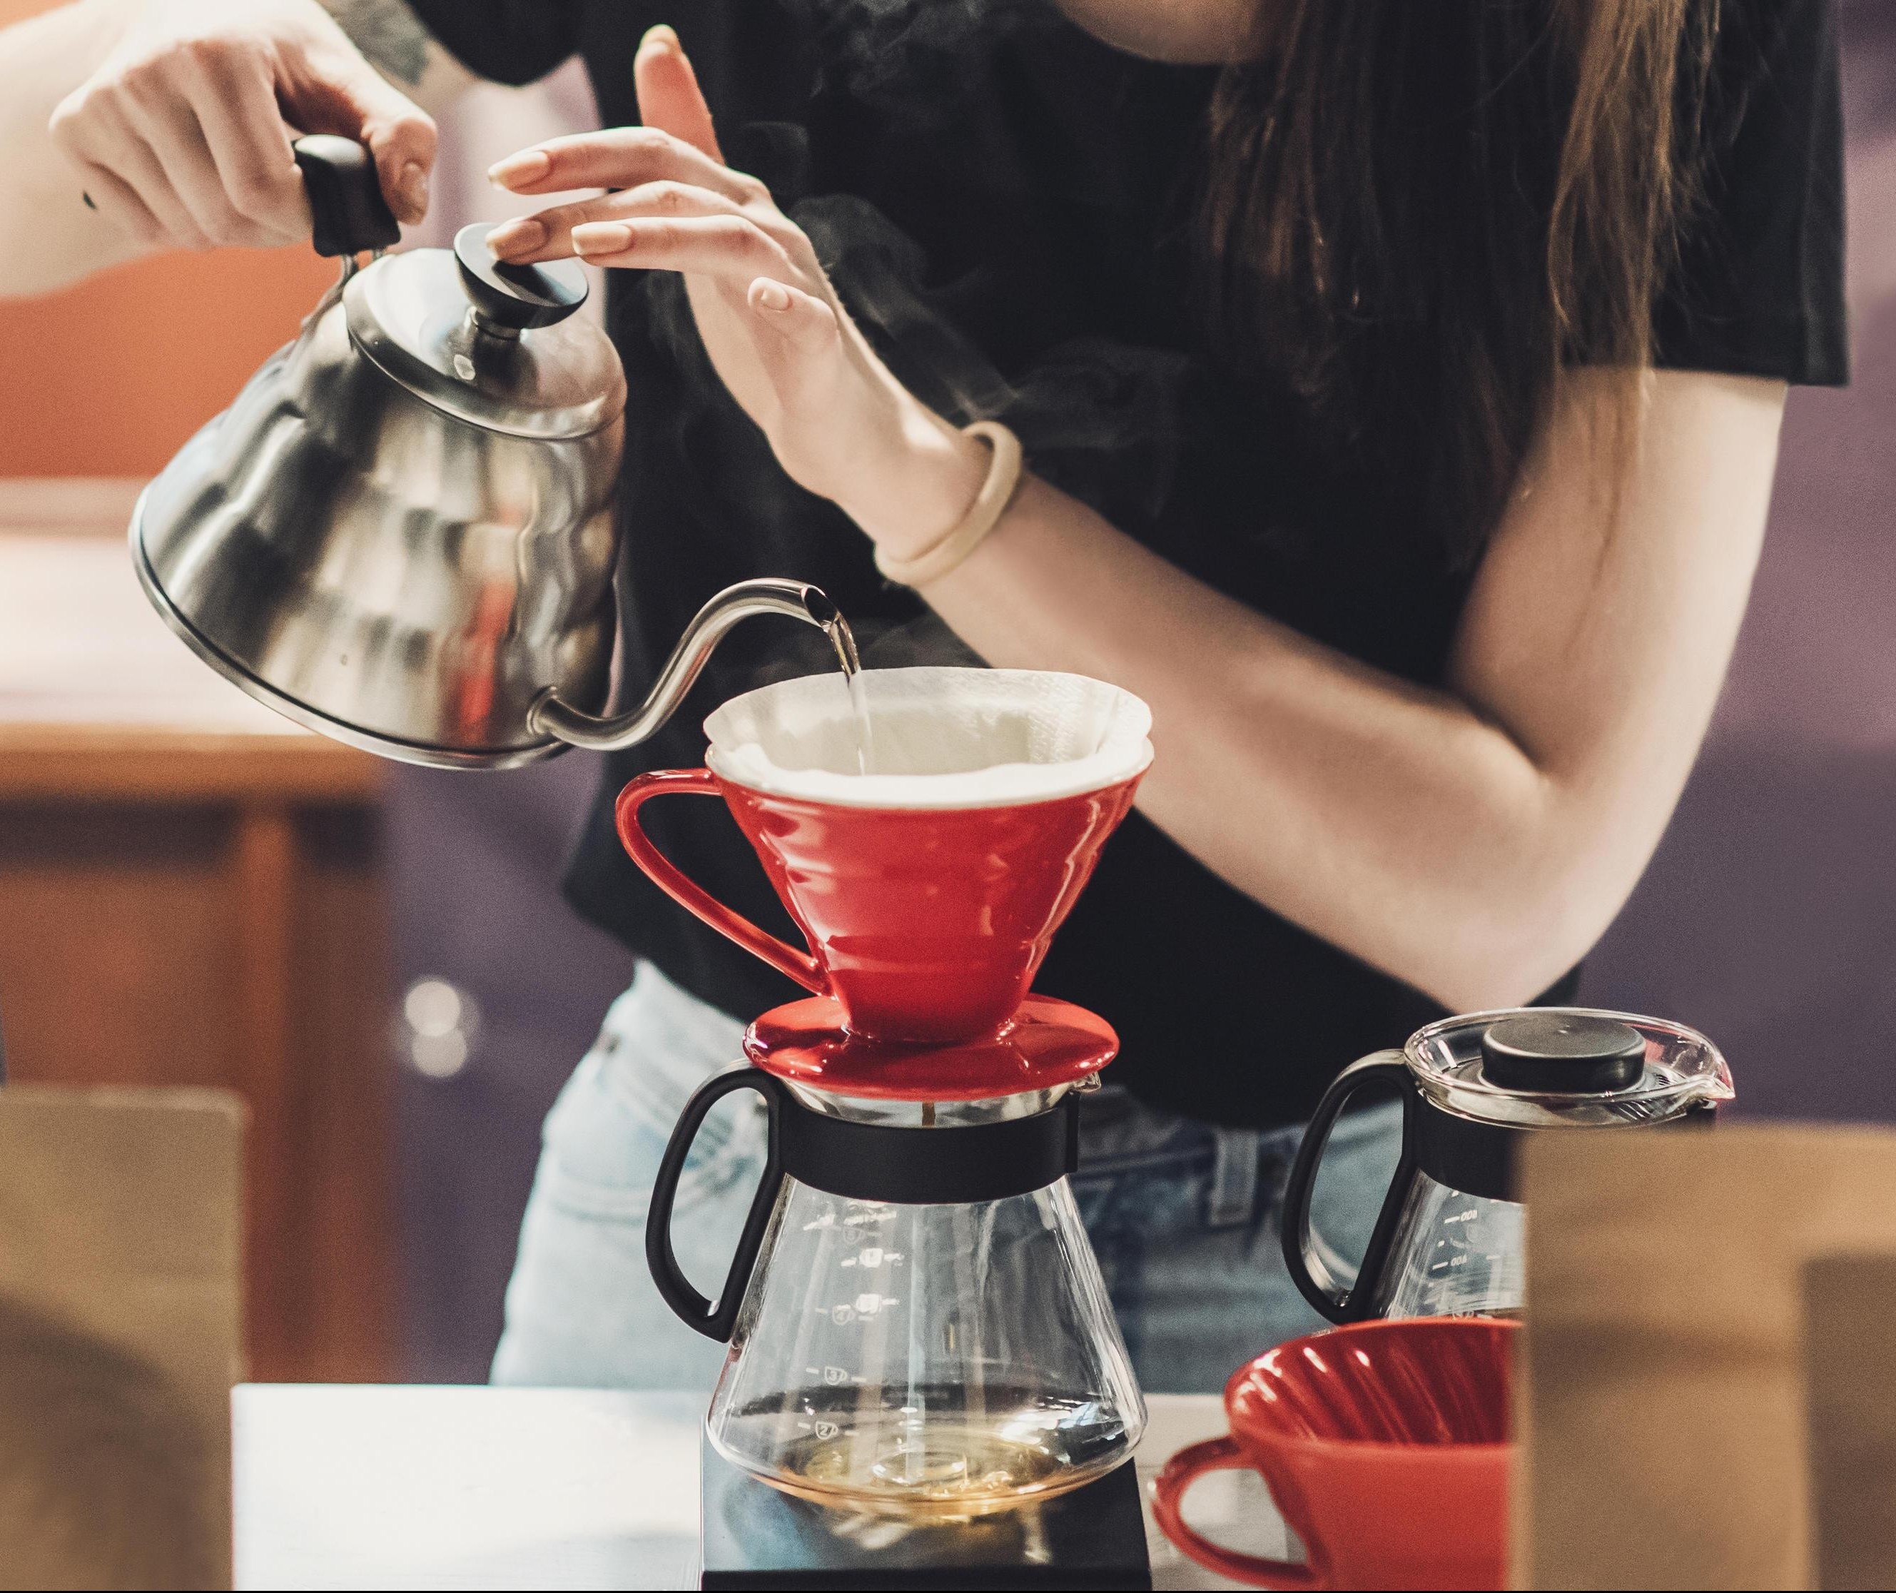
{"label": "whole bare arm from beige bracelet up to the black sleeve, bent at elbow", "polygon": [[[1777,383],[1659,374],[1615,459],[1593,427],[1612,381],[1568,383],[1441,690],[1223,597],[1033,480],[925,595],[995,664],[1145,696],[1141,806],[1238,889],[1450,1007],[1526,999],[1612,922],[1691,772],[1784,404]],[[1598,482],[1621,467],[1615,508]]]}

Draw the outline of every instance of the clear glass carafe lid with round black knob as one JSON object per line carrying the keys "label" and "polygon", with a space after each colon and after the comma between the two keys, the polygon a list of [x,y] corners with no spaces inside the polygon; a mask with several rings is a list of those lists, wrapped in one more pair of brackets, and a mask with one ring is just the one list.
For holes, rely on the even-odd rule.
{"label": "clear glass carafe lid with round black knob", "polygon": [[1631,1128],[1733,1094],[1703,1034],[1583,1007],[1445,1018],[1413,1034],[1403,1060],[1424,1100],[1511,1128]]}

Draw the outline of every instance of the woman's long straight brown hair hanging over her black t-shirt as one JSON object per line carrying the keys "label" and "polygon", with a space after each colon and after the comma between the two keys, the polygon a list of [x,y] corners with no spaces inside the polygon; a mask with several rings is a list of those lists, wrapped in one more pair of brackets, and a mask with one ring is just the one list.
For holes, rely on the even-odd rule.
{"label": "woman's long straight brown hair hanging over her black t-shirt", "polygon": [[1261,0],[1255,59],[1223,74],[1221,343],[1458,559],[1560,370],[1651,360],[1716,30],[1718,0]]}

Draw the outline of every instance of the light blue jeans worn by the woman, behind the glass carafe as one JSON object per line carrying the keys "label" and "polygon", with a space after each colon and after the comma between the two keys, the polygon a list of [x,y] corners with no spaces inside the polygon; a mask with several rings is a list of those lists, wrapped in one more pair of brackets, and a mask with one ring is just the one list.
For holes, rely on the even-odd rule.
{"label": "light blue jeans worn by the woman, behind the glass carafe", "polygon": [[[686,1098],[741,1056],[743,1026],[641,965],[546,1119],[540,1170],[506,1291],[495,1382],[703,1388],[724,1346],[679,1322],[645,1267],[652,1176]],[[1314,1219],[1350,1254],[1395,1166],[1392,1108],[1331,1138]],[[1139,1382],[1217,1390],[1259,1350],[1323,1320],[1278,1254],[1299,1130],[1213,1128],[1107,1085],[1081,1104],[1073,1178]],[[739,1092],[707,1119],[679,1181],[673,1248],[717,1295],[764,1161],[764,1115]]]}

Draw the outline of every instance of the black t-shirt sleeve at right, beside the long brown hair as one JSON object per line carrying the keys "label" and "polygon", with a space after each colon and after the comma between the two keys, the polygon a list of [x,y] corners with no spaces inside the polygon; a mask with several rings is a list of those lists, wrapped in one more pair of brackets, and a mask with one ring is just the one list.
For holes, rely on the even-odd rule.
{"label": "black t-shirt sleeve at right, beside the long brown hair", "polygon": [[1725,0],[1703,203],[1655,317],[1657,362],[1841,387],[1843,110],[1832,0]]}

